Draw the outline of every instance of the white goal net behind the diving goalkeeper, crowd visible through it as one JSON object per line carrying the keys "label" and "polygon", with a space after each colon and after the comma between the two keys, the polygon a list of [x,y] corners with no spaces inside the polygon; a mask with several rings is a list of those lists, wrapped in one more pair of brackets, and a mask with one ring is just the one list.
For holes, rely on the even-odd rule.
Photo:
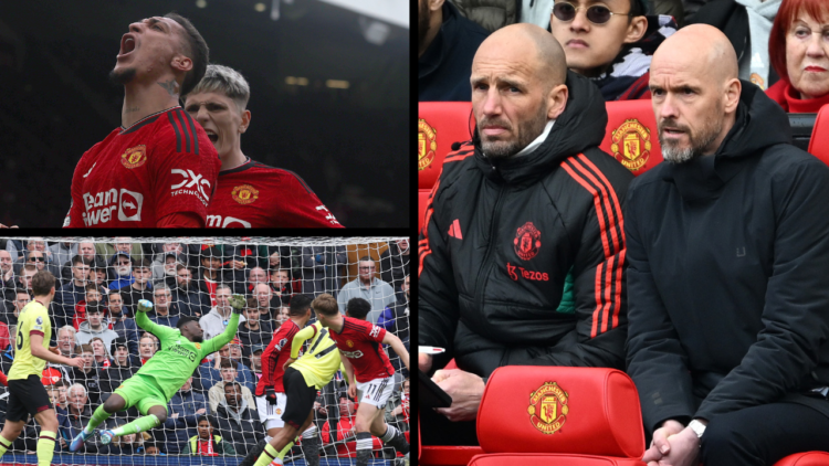
{"label": "white goal net behind the diving goalkeeper, crowd visible through it", "polygon": [[[328,294],[340,313],[367,310],[365,320],[399,337],[408,350],[409,250],[408,237],[0,239],[0,369],[9,373],[19,350],[15,340],[23,338],[18,316],[33,298],[32,276],[49,271],[56,279],[49,305],[50,346],[84,359],[83,369],[50,362],[42,373],[60,425],[52,464],[237,465],[251,452],[259,456],[266,428],[274,425],[262,421],[267,420],[256,388],[275,331],[296,321],[290,315],[292,299]],[[176,328],[179,319],[196,317],[207,341],[227,328],[232,294],[245,297],[235,338],[199,363],[167,404],[162,425],[103,445],[101,432],[139,417],[130,407],[109,416],[78,453],[69,451],[95,409],[166,350],[136,325],[138,300],[153,301],[147,317],[158,325]],[[307,325],[314,321],[312,310]],[[391,348],[378,345],[393,368],[393,390],[380,416],[408,437],[408,370]],[[345,379],[340,371],[317,391],[312,410],[316,441],[301,438],[285,464],[306,464],[303,443],[319,452],[322,465],[356,463],[359,400],[348,395]],[[0,385],[1,423],[9,409],[7,390]],[[264,411],[282,413],[264,403]],[[0,466],[36,464],[39,431],[30,416]],[[403,464],[395,448],[371,441],[371,464]]]}

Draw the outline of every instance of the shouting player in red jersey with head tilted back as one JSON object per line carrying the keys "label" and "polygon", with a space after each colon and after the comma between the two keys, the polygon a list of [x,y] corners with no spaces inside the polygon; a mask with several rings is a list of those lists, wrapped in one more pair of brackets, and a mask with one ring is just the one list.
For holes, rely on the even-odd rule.
{"label": "shouting player in red jersey with head tilted back", "polygon": [[125,89],[122,127],[77,162],[64,226],[204,226],[221,162],[178,99],[207,63],[207,43],[187,19],[129,24],[109,73]]}

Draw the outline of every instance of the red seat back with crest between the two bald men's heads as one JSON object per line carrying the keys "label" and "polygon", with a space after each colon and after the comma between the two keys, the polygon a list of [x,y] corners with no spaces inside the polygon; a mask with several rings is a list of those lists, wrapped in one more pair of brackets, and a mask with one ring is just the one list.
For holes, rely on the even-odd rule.
{"label": "red seat back with crest between the two bald men's heads", "polygon": [[662,161],[651,100],[608,102],[607,130],[599,146],[639,176]]}

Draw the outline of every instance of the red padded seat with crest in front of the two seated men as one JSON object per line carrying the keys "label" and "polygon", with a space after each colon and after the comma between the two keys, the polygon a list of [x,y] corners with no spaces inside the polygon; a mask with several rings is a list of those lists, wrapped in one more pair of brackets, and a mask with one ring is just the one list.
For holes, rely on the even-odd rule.
{"label": "red padded seat with crest in front of the two seated men", "polygon": [[496,369],[481,400],[478,439],[486,453],[470,466],[643,465],[639,395],[616,369]]}

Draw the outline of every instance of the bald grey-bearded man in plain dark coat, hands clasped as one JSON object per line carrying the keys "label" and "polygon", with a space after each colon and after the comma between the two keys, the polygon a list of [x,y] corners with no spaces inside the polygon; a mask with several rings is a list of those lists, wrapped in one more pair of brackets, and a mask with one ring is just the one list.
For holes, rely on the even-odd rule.
{"label": "bald grey-bearded man in plain dark coat, hands clasped", "polygon": [[657,50],[650,88],[665,162],[631,183],[625,218],[628,372],[655,430],[643,460],[826,451],[829,168],[791,146],[710,25]]}

